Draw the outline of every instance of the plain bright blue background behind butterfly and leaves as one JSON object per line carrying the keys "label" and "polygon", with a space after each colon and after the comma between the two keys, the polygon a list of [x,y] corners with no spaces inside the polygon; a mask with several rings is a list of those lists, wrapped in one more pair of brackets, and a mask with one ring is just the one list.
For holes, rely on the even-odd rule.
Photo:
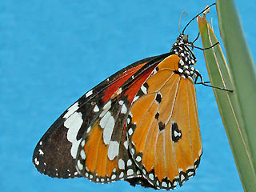
{"label": "plain bright blue background behind butterfly and leaves", "polygon": [[[95,184],[84,178],[39,174],[32,163],[38,140],[91,87],[139,59],[166,53],[181,26],[213,1],[27,0],[0,2],[0,190],[153,191],[127,182]],[[255,54],[254,10],[236,1]],[[214,18],[215,8],[208,18]],[[181,27],[182,28],[182,27]],[[197,22],[186,30],[190,40]],[[218,35],[218,39],[220,39]],[[202,46],[199,40],[196,46]],[[201,50],[197,69],[207,80]],[[204,153],[197,174],[175,191],[242,191],[213,91],[196,86]]]}

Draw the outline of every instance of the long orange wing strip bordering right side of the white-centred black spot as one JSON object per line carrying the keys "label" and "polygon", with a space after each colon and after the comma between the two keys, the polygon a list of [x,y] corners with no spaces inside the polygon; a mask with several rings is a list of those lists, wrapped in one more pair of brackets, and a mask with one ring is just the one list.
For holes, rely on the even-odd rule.
{"label": "long orange wing strip bordering right side of the white-centred black spot", "polygon": [[189,98],[186,88],[188,82],[190,82],[188,79],[181,78],[172,115],[172,121],[177,122],[178,129],[182,132],[182,138],[180,138],[178,142],[174,142],[174,148],[178,168],[183,171],[186,171],[188,166],[194,165],[190,140]]}

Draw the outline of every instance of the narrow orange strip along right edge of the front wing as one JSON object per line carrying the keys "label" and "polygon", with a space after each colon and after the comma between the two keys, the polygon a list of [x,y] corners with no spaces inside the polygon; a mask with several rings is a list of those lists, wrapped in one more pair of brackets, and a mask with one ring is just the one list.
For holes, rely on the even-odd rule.
{"label": "narrow orange strip along right edge of the front wing", "polygon": [[198,159],[198,152],[202,150],[202,142],[201,135],[199,130],[199,122],[198,122],[198,109],[197,109],[197,101],[194,90],[194,84],[192,82],[187,83],[187,93],[189,98],[189,109],[190,109],[190,135],[192,142],[192,153],[193,159]]}

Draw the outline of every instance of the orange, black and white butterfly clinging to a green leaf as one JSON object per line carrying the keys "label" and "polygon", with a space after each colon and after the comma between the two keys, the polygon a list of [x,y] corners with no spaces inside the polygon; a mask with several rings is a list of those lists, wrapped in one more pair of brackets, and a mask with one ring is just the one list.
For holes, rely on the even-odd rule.
{"label": "orange, black and white butterfly clinging to a green leaf", "polygon": [[184,30],[169,53],[134,62],[74,102],[38,142],[37,170],[164,190],[194,176],[202,156],[194,82],[202,76]]}

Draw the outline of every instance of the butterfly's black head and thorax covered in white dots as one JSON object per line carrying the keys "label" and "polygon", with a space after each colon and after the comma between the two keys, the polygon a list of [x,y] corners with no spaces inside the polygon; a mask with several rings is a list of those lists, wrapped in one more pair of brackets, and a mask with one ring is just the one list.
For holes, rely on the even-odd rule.
{"label": "butterfly's black head and thorax covered in white dots", "polygon": [[195,70],[193,67],[197,59],[192,50],[190,50],[190,46],[193,47],[193,42],[188,41],[188,35],[180,34],[170,53],[177,54],[181,58],[178,63],[178,70],[175,72],[182,75],[183,78],[189,78],[193,81],[198,74],[198,70]]}

